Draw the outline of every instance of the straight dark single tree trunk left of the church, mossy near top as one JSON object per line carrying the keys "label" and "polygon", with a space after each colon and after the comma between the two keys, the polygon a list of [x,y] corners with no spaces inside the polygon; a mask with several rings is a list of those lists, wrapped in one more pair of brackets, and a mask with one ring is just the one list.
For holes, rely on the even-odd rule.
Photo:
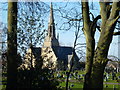
{"label": "straight dark single tree trunk left of the church, mossy near top", "polygon": [[17,2],[8,2],[7,90],[17,86]]}

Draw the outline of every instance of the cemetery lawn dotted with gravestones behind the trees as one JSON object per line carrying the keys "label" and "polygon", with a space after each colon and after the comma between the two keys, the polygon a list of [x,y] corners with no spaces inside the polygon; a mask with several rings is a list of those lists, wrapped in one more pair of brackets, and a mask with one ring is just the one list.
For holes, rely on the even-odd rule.
{"label": "cemetery lawn dotted with gravestones behind the trees", "polygon": [[[57,78],[60,82],[59,87],[65,88],[65,80],[66,80],[66,72],[67,71],[60,71],[56,72],[54,77]],[[84,71],[75,71],[70,74],[69,77],[69,87],[70,88],[83,88],[84,83]],[[104,88],[120,88],[120,72],[114,73],[105,72],[104,74]]]}

